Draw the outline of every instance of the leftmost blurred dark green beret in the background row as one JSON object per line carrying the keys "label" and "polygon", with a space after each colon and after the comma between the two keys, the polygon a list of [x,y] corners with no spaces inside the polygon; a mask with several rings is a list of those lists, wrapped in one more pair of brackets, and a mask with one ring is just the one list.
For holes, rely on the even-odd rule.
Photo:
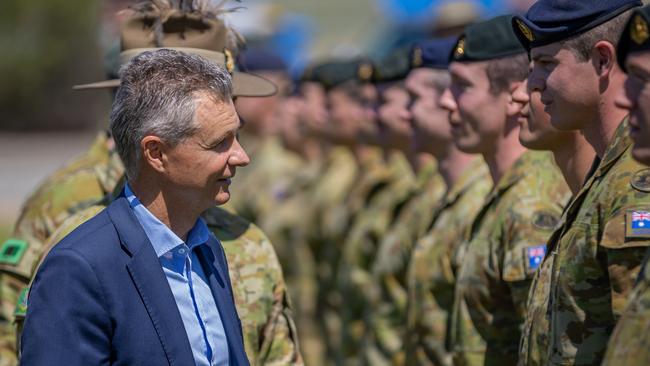
{"label": "leftmost blurred dark green beret in the background row", "polygon": [[364,59],[331,61],[307,68],[301,80],[320,83],[329,90],[352,80],[369,82],[373,73],[372,63]]}

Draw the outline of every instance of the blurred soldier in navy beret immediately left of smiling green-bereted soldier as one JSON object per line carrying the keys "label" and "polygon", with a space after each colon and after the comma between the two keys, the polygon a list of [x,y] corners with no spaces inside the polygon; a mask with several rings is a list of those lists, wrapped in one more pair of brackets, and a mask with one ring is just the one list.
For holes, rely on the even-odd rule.
{"label": "blurred soldier in navy beret immediately left of smiling green-bereted soldier", "polygon": [[[418,213],[426,220],[425,228],[415,229],[408,236],[397,235],[397,241],[392,241],[391,236],[386,238],[387,245],[380,251],[375,267],[382,274],[384,288],[394,294],[393,311],[399,314],[396,318],[406,327],[400,334],[406,365],[450,362],[445,334],[455,282],[452,253],[490,187],[485,164],[453,144],[447,113],[438,103],[449,83],[446,55],[454,45],[455,39],[417,45],[414,53],[419,53],[419,68],[411,71],[406,80],[414,97],[414,146],[437,158],[447,190],[442,200],[428,202],[426,213]],[[425,235],[422,229],[428,230]],[[397,294],[402,298],[396,298]]]}

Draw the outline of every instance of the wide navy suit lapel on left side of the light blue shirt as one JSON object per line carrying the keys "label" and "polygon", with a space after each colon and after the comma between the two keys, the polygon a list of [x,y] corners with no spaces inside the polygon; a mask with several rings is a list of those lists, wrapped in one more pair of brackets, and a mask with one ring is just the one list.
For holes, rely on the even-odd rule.
{"label": "wide navy suit lapel on left side of the light blue shirt", "polygon": [[193,365],[183,320],[156,252],[124,197],[117,198],[108,214],[131,255],[127,269],[151,318],[170,365]]}

